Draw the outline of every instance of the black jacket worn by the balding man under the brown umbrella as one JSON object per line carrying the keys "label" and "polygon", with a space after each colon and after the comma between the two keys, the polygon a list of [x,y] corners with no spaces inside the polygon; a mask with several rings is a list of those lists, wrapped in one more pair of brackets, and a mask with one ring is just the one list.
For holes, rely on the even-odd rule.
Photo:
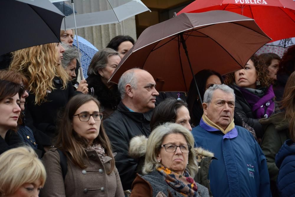
{"label": "black jacket worn by the balding man under the brown umbrella", "polygon": [[137,159],[128,154],[129,142],[135,136],[150,135],[150,118],[152,111],[147,113],[130,112],[122,102],[118,109],[104,121],[104,128],[109,137],[119,171],[123,190],[131,189],[137,170]]}

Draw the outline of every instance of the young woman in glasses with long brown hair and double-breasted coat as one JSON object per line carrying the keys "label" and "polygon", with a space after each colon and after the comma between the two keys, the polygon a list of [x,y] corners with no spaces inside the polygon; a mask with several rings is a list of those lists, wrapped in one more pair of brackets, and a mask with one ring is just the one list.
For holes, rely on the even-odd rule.
{"label": "young woman in glasses with long brown hair and double-breasted coat", "polygon": [[[124,196],[99,101],[79,94],[65,106],[56,147],[44,154],[47,180],[40,196]],[[61,151],[66,155],[63,178]]]}

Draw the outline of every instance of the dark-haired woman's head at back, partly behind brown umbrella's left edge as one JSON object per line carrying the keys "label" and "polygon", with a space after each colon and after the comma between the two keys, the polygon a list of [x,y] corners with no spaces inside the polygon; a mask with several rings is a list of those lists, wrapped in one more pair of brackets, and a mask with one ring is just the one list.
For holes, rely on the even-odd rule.
{"label": "dark-haired woman's head at back, partly behind brown umbrella's left edge", "polygon": [[112,48],[119,53],[120,58],[122,59],[125,54],[132,48],[134,45],[134,39],[129,35],[117,35],[112,38],[106,48]]}

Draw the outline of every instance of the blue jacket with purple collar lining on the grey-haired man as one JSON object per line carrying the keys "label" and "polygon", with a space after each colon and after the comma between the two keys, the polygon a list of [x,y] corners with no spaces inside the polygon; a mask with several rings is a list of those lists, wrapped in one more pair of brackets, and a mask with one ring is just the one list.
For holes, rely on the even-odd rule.
{"label": "blue jacket with purple collar lining on the grey-haired man", "polygon": [[271,196],[266,158],[249,131],[235,126],[224,135],[201,119],[192,133],[197,146],[217,158],[209,167],[214,197]]}

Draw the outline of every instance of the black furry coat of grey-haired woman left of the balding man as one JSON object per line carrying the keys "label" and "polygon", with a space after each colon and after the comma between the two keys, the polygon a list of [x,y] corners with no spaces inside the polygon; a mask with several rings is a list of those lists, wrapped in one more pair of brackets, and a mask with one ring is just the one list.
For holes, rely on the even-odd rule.
{"label": "black furry coat of grey-haired woman left of the balding man", "polygon": [[94,96],[101,103],[104,119],[108,118],[115,110],[121,100],[118,85],[114,84],[111,89],[101,81],[100,75],[92,74],[86,79],[88,88],[93,87]]}

